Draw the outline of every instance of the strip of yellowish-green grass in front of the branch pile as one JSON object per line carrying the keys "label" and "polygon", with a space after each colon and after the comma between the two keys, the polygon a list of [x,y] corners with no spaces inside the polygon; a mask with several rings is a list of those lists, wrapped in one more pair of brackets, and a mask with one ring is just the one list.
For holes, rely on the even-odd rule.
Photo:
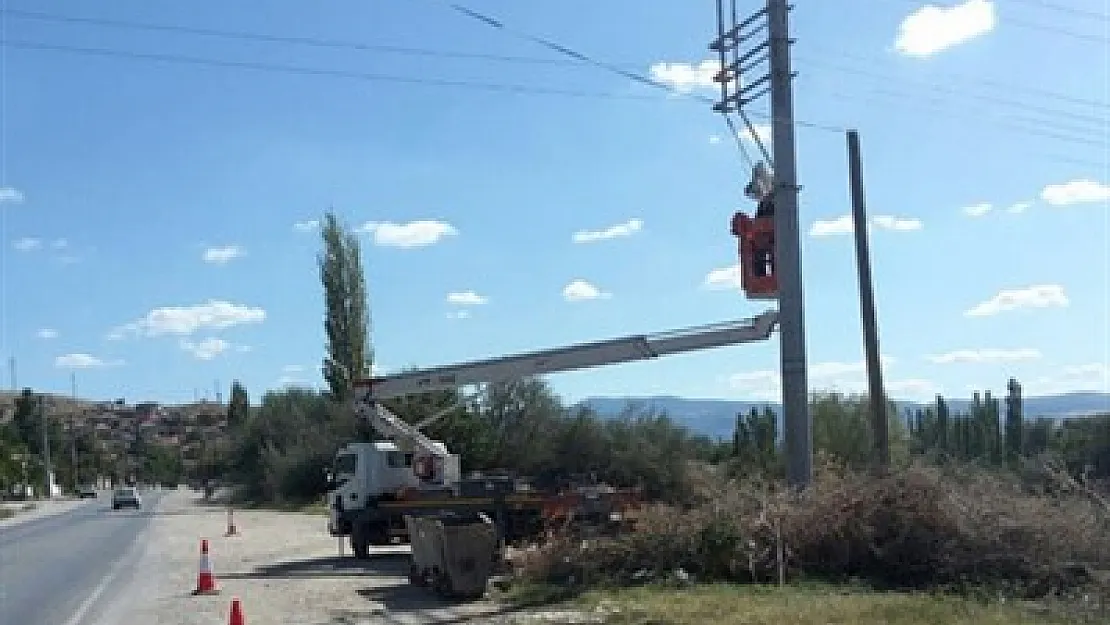
{"label": "strip of yellowish-green grass in front of the branch pile", "polygon": [[[523,595],[517,595],[523,596]],[[1025,604],[827,586],[640,586],[593,591],[572,604],[607,625],[1054,625],[1074,623]]]}

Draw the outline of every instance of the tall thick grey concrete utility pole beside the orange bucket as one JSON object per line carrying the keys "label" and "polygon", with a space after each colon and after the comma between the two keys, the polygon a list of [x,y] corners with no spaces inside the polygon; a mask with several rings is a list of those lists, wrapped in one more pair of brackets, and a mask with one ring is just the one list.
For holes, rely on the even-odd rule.
{"label": "tall thick grey concrete utility pole beside the orange bucket", "polygon": [[790,71],[790,7],[767,0],[770,64],[771,150],[775,170],[775,274],[778,276],[778,333],[786,425],[786,476],[809,485],[814,474],[809,382],[806,372],[806,315],[801,282],[797,162],[794,144],[794,74]]}

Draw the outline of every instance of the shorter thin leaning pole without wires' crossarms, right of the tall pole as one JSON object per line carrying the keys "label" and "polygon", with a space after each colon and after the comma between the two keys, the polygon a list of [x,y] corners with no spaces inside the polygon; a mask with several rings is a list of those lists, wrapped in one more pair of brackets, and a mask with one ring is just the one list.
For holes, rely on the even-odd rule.
{"label": "shorter thin leaning pole without wires' crossarms, right of the tall pole", "polygon": [[867,356],[867,394],[871,403],[871,437],[875,467],[890,467],[890,434],[887,431],[887,396],[882,390],[882,361],[879,357],[879,324],[875,313],[875,288],[871,283],[871,254],[867,241],[867,206],[864,196],[864,159],[859,133],[848,131],[848,170],[851,177],[851,221],[856,229],[856,268],[859,270],[859,313],[864,322],[864,352]]}

